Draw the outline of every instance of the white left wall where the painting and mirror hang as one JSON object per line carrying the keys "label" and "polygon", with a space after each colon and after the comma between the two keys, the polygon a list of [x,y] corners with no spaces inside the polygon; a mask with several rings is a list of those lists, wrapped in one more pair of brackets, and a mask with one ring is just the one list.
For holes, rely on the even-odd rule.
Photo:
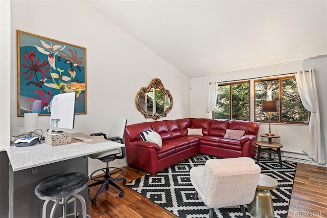
{"label": "white left wall where the painting and mirror hang", "polygon": [[[24,133],[24,127],[17,127],[17,29],[87,49],[87,114],[76,116],[71,132],[108,133],[117,117],[127,118],[127,124],[153,121],[136,110],[135,96],[154,78],[161,79],[174,99],[165,119],[190,116],[190,79],[86,4],[15,0],[11,1],[11,135]],[[38,127],[45,131],[49,122],[49,116],[41,116]],[[90,160],[89,172],[103,167],[99,162]],[[113,163],[124,164],[125,159]]]}

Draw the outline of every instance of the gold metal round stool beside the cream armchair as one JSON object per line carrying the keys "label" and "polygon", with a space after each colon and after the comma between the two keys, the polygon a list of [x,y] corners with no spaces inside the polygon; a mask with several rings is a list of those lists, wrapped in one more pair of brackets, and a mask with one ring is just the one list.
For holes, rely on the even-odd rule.
{"label": "gold metal round stool beside the cream armchair", "polygon": [[254,199],[247,205],[248,213],[255,218],[274,218],[275,213],[270,190],[277,187],[277,180],[261,174],[258,186],[256,186]]}

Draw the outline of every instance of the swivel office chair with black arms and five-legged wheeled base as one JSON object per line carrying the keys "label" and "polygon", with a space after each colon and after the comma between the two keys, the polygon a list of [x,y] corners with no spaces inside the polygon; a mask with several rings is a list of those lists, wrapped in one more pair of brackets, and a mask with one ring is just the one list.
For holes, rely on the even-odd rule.
{"label": "swivel office chair with black arms and five-legged wheeled base", "polygon": [[[115,119],[112,126],[110,133],[108,137],[106,134],[103,133],[93,133],[90,134],[91,136],[103,136],[105,139],[110,141],[119,141],[120,143],[124,144],[124,133],[126,128],[127,120],[125,118],[118,118]],[[125,157],[125,147],[120,149],[115,148],[108,151],[99,152],[96,154],[89,155],[88,157],[92,159],[98,159],[102,162],[106,162],[107,167],[98,169],[94,172],[92,172],[90,179],[96,181],[95,183],[89,185],[88,187],[101,185],[100,189],[98,190],[97,194],[95,195],[94,199],[91,200],[92,204],[97,203],[97,197],[98,195],[103,191],[104,188],[106,190],[109,189],[109,185],[112,185],[116,189],[119,189],[121,192],[119,193],[119,197],[124,196],[124,190],[115,183],[115,181],[123,181],[123,183],[126,183],[126,178],[121,177],[124,173],[124,170],[117,167],[109,167],[109,162],[113,161],[115,159],[123,159]],[[121,154],[120,156],[118,156]],[[99,173],[102,173],[99,175]],[[104,173],[104,174],[103,174]]]}

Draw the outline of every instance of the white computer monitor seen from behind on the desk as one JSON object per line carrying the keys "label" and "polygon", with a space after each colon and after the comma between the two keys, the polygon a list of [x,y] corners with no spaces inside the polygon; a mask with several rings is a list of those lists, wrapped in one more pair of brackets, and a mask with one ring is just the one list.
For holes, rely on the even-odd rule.
{"label": "white computer monitor seen from behind on the desk", "polygon": [[74,128],[75,122],[76,93],[63,93],[55,95],[50,106],[50,124],[48,135],[59,135],[52,133],[53,127]]}

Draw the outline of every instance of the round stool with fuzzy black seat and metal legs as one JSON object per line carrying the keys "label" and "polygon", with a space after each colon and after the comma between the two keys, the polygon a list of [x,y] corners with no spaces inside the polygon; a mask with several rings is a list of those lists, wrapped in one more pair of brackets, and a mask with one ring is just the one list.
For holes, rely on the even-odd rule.
{"label": "round stool with fuzzy black seat and metal legs", "polygon": [[[46,207],[50,201],[55,202],[50,217],[53,218],[58,205],[62,205],[62,217],[66,218],[67,215],[74,215],[77,217],[76,212],[76,199],[82,204],[83,218],[90,217],[86,213],[86,202],[81,194],[88,185],[88,176],[81,172],[68,172],[61,173],[56,176],[50,177],[35,188],[35,194],[41,200],[45,200],[42,208],[42,218],[46,217]],[[69,197],[72,197],[69,199]],[[74,202],[74,214],[66,214],[67,204]]]}

